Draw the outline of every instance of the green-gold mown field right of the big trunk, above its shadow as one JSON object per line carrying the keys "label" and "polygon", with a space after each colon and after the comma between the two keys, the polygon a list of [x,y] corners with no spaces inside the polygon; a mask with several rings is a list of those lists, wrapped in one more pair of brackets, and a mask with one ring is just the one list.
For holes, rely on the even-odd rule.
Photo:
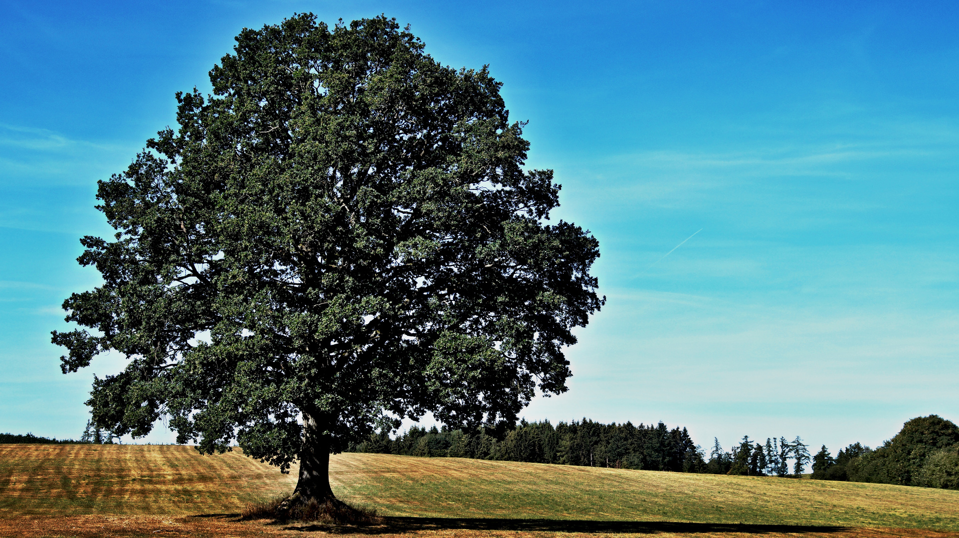
{"label": "green-gold mown field right of the big trunk, above its shadow", "polygon": [[384,515],[959,530],[959,491],[511,461],[340,454],[334,491]]}

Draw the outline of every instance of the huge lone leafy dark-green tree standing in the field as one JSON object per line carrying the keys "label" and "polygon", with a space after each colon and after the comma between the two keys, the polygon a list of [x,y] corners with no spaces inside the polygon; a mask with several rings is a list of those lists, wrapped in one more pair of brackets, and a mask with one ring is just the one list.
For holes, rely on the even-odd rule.
{"label": "huge lone leafy dark-green tree standing in the field", "polygon": [[64,372],[116,350],[97,425],[286,471],[334,500],[331,452],[427,412],[502,427],[566,391],[563,347],[605,299],[596,239],[548,224],[559,186],[526,170],[500,82],[444,67],[384,16],[244,30],[176,95],[166,128],[100,182],[117,233],[79,258],[104,283],[63,303]]}

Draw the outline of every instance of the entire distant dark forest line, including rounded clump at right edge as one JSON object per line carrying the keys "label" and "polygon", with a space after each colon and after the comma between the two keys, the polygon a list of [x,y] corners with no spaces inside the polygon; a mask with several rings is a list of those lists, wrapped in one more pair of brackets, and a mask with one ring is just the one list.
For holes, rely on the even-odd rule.
{"label": "entire distant dark forest line, including rounded clump at right edge", "polygon": [[854,443],[835,458],[825,445],[810,457],[800,437],[760,443],[747,436],[728,451],[713,439],[707,460],[686,428],[670,429],[663,422],[602,424],[588,418],[555,426],[548,420],[523,420],[499,435],[413,426],[396,438],[370,436],[348,451],[792,478],[802,476],[811,463],[814,480],[959,489],[959,427],[938,415],[909,420],[899,435],[875,450]]}

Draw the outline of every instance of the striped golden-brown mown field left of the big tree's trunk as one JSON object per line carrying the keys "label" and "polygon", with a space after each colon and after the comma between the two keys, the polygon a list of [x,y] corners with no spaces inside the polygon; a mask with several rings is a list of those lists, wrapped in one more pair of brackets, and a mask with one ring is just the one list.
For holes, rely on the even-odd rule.
{"label": "striped golden-brown mown field left of the big tree's trunk", "polygon": [[0,444],[0,514],[235,513],[294,479],[191,446]]}

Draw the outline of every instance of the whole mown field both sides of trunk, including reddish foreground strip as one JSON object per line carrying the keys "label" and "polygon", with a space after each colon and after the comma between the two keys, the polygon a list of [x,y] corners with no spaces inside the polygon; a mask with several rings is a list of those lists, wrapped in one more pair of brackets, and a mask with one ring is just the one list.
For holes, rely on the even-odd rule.
{"label": "whole mown field both sides of trunk, including reddish foreground strip", "polygon": [[[364,534],[959,538],[959,491],[505,461],[341,454],[331,482],[384,526]],[[0,445],[0,536],[252,536],[351,532],[239,523],[293,478],[192,447]]]}

